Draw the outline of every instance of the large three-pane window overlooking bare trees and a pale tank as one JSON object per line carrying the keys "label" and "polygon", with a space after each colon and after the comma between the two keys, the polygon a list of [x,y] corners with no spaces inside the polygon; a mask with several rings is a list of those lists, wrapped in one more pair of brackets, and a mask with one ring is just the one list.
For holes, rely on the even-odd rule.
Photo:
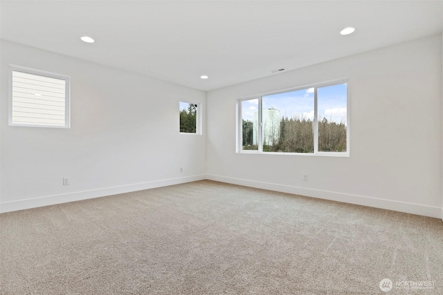
{"label": "large three-pane window overlooking bare trees and a pale tank", "polygon": [[347,83],[239,100],[239,151],[349,155]]}

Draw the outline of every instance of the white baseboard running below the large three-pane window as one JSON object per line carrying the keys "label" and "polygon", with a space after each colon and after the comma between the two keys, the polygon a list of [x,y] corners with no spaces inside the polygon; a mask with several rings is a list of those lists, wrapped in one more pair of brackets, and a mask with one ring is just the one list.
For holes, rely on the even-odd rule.
{"label": "white baseboard running below the large three-pane window", "polygon": [[303,187],[292,187],[289,185],[274,184],[269,182],[258,182],[254,180],[245,180],[240,178],[228,178],[219,175],[206,175],[206,179],[215,180],[218,182],[226,182],[230,184],[243,185],[245,187],[254,187],[257,189],[269,189],[270,191],[293,193],[296,195],[307,196],[311,198],[320,198],[324,200],[333,200],[333,201],[345,202],[350,204],[358,204],[368,207],[388,209],[404,213],[412,213],[416,215],[428,216],[433,218],[442,218],[443,220],[443,208],[440,207],[432,207],[422,204],[413,204],[408,202],[398,202],[398,201],[384,200],[379,198],[356,196],[347,193],[320,191],[318,189],[305,189]]}

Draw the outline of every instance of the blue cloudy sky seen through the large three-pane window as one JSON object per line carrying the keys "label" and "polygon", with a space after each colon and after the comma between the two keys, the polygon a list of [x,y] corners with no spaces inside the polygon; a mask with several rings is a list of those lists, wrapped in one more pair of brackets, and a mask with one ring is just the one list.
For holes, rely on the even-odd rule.
{"label": "blue cloudy sky seen through the large three-pane window", "polygon": [[[338,84],[317,88],[318,117],[334,122],[346,123],[346,96],[347,85]],[[314,120],[314,88],[266,95],[262,99],[263,109],[275,108],[280,111],[281,117],[302,116]],[[242,117],[253,120],[253,113],[258,109],[258,100],[252,99],[242,102]]]}

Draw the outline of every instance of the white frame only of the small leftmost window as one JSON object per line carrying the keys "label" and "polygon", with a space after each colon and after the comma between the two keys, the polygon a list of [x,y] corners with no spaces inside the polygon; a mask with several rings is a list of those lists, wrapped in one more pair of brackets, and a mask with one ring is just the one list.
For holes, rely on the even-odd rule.
{"label": "white frame only of the small leftmost window", "polygon": [[[61,79],[65,81],[65,93],[64,93],[64,125],[48,125],[48,124],[20,124],[12,122],[12,73],[21,72],[31,75],[39,75],[42,77],[50,77],[54,79]],[[71,128],[71,77],[58,73],[48,72],[46,70],[37,70],[35,68],[27,68],[25,66],[17,66],[14,64],[9,65],[9,83],[8,83],[8,125],[20,126],[20,127],[38,127],[38,128]]]}

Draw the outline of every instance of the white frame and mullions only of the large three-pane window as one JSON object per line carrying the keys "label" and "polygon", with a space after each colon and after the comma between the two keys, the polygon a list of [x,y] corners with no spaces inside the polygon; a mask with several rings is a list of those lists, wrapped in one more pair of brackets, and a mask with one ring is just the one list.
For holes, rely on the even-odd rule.
{"label": "white frame and mullions only of the large three-pane window", "polygon": [[[293,88],[286,88],[279,91],[271,91],[267,93],[260,93],[256,95],[250,95],[247,97],[242,97],[237,99],[237,116],[236,116],[236,153],[245,153],[245,154],[265,154],[265,155],[314,155],[314,156],[326,156],[326,157],[350,157],[350,79],[342,78],[342,79],[334,79],[327,82],[320,82],[316,84],[308,84],[304,86],[297,86]],[[323,88],[327,86],[334,86],[338,84],[346,84],[346,151],[345,152],[336,152],[336,151],[318,151],[318,97],[317,97],[317,89]],[[275,95],[281,93],[288,93],[292,91],[301,91],[308,88],[314,88],[314,153],[283,153],[283,152],[269,152],[263,151],[263,131],[262,131],[262,97],[267,95]],[[242,149],[242,102],[248,101],[251,99],[258,99],[258,131],[257,131],[257,142],[258,149],[257,150],[244,150]]]}

